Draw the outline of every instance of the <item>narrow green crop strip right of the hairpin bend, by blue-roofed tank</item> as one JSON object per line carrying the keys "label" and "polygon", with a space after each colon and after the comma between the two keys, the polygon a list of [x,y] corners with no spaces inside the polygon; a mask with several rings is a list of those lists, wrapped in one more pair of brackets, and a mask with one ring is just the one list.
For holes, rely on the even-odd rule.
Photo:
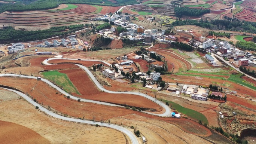
{"label": "narrow green crop strip right of the hairpin bend, by blue-roofed tank", "polygon": [[[160,99],[158,99],[158,100],[160,100]],[[190,117],[192,119],[195,119],[195,120],[198,120],[198,121],[202,120],[202,123],[207,123],[207,125],[209,124],[208,120],[204,116],[204,114],[199,113],[198,111],[182,107],[181,105],[176,104],[175,102],[172,102],[172,101],[167,101],[167,100],[164,100],[164,99],[162,99],[162,101],[163,102],[168,102],[172,106],[172,108],[175,108],[179,113],[186,114],[188,117]]]}

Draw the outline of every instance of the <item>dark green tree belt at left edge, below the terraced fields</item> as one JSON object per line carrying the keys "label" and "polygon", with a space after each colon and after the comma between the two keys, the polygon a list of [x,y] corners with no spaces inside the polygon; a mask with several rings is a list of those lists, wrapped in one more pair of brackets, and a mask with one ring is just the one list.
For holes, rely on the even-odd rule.
{"label": "dark green tree belt at left edge, below the terraced fields", "polygon": [[[77,30],[82,30],[85,25],[70,25],[61,27],[51,27],[47,30],[21,31],[13,27],[4,27],[0,30],[0,43],[28,42],[35,40],[48,39],[55,36],[65,36]],[[66,31],[66,29],[69,29]]]}

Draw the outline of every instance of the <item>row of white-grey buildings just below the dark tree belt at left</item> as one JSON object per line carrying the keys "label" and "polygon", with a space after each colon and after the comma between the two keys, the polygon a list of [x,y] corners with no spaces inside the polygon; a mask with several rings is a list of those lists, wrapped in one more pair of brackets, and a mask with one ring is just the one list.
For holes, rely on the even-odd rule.
{"label": "row of white-grey buildings just below the dark tree belt at left", "polygon": [[66,39],[61,39],[61,41],[58,40],[53,40],[52,42],[45,41],[45,45],[39,44],[37,45],[38,48],[51,48],[55,47],[57,48],[58,46],[63,46],[66,47],[68,45],[77,45],[78,41],[76,40],[76,35],[68,36],[67,37],[69,40]]}

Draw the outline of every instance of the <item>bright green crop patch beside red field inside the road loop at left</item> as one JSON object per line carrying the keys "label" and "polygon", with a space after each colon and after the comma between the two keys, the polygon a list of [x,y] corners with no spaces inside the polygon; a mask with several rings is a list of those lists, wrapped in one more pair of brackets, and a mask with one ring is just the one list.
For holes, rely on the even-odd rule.
{"label": "bright green crop patch beside red field inside the road loop at left", "polygon": [[60,73],[59,71],[46,71],[42,73],[45,79],[54,82],[57,86],[62,87],[65,92],[79,94],[76,87],[68,78],[67,74]]}

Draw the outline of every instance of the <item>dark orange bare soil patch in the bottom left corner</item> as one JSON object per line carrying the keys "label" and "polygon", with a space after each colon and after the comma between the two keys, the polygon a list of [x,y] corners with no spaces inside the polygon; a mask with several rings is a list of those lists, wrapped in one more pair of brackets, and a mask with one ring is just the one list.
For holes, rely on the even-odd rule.
{"label": "dark orange bare soil patch in the bottom left corner", "polygon": [[32,129],[16,123],[0,120],[0,128],[1,144],[51,144]]}

